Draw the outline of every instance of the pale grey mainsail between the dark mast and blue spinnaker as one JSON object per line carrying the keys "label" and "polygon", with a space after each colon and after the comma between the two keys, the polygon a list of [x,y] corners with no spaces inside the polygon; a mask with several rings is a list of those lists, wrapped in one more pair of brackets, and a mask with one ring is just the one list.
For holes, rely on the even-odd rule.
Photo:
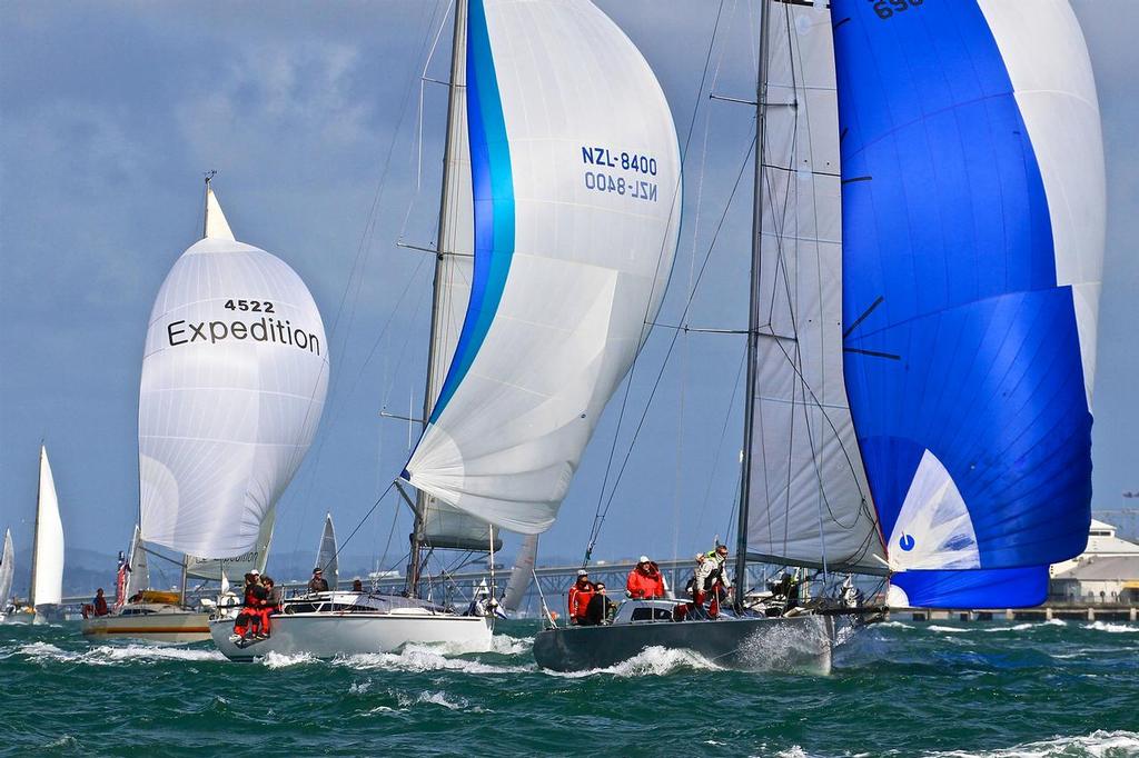
{"label": "pale grey mainsail between the dark mast and blue spinnaker", "polygon": [[830,11],[768,3],[752,502],[755,557],[885,570],[843,384],[842,201]]}

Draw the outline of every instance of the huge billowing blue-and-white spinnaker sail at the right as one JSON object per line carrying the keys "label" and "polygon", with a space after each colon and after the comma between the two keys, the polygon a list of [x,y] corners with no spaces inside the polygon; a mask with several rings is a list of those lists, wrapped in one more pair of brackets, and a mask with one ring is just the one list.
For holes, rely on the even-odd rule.
{"label": "huge billowing blue-and-white spinnaker sail at the right", "polygon": [[1079,24],[1063,0],[831,6],[844,373],[894,596],[975,604],[973,569],[1039,587],[1090,520],[1105,184]]}

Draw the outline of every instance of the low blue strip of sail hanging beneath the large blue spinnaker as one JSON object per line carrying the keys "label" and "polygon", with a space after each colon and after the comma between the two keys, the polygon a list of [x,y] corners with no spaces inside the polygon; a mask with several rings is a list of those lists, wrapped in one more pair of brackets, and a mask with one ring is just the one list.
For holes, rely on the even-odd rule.
{"label": "low blue strip of sail hanging beneath the large blue spinnaker", "polygon": [[1048,596],[1048,567],[977,571],[902,571],[894,575],[892,608],[1032,608]]}

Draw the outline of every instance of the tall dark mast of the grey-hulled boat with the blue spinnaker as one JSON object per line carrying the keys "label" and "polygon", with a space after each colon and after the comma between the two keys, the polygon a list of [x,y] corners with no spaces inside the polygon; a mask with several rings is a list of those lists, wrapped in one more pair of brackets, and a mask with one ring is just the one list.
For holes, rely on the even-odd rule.
{"label": "tall dark mast of the grey-hulled boat with the blue spinnaker", "polygon": [[760,343],[760,256],[763,232],[763,133],[767,118],[768,27],[771,8],[760,3],[760,50],[755,72],[755,197],[752,201],[752,267],[747,310],[747,393],[744,402],[744,455],[739,484],[739,524],[736,528],[736,610],[747,591],[747,521],[752,497],[752,446],[755,431],[755,362]]}

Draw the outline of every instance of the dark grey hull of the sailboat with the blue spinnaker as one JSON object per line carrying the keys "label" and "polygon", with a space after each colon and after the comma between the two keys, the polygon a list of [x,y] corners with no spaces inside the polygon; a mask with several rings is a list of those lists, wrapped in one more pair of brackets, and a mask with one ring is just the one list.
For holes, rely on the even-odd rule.
{"label": "dark grey hull of the sailboat with the blue spinnaker", "polygon": [[555,672],[608,668],[647,648],[691,650],[716,666],[747,672],[830,673],[830,616],[648,621],[543,629],[534,660]]}

